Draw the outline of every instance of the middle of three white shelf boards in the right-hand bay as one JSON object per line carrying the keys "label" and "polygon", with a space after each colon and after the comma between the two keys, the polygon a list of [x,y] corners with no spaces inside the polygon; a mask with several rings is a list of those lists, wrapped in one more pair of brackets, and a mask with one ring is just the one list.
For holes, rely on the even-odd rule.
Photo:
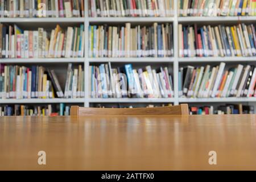
{"label": "middle of three white shelf boards in the right-hand bay", "polygon": [[179,63],[256,61],[256,57],[179,57]]}

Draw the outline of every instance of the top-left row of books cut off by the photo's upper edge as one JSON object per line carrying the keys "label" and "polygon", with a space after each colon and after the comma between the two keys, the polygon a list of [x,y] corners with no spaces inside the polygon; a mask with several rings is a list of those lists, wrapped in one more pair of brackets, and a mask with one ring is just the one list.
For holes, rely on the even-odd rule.
{"label": "top-left row of books cut off by the photo's upper edge", "polygon": [[84,0],[2,0],[5,18],[84,17]]}

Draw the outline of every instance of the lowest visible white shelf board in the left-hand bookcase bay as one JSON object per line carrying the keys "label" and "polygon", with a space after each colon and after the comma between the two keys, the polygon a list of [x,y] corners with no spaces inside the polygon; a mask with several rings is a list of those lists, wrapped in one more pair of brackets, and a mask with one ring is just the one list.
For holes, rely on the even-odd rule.
{"label": "lowest visible white shelf board in the left-hand bookcase bay", "polygon": [[31,98],[31,99],[0,99],[1,104],[36,104],[36,103],[84,103],[84,98]]}

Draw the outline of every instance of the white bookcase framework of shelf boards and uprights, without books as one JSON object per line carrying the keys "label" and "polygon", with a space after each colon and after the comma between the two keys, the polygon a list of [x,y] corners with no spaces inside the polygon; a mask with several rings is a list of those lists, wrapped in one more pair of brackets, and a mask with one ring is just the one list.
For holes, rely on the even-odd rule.
{"label": "white bookcase framework of shelf boards and uprights, without books", "polygon": [[[107,18],[92,18],[88,16],[88,0],[84,0],[85,6],[85,17],[84,18],[0,18],[1,23],[18,23],[23,26],[30,26],[30,24],[36,23],[41,26],[55,26],[57,23],[60,25],[69,25],[69,24],[81,24],[84,23],[85,27],[85,56],[83,58],[56,58],[56,59],[0,59],[0,63],[5,64],[54,64],[55,67],[58,64],[67,64],[67,63],[76,63],[83,64],[85,71],[85,97],[84,98],[54,98],[54,99],[21,99],[21,100],[0,100],[1,104],[14,104],[14,103],[80,103],[84,104],[85,107],[89,107],[90,104],[94,103],[172,103],[178,105],[180,103],[202,103],[206,104],[208,102],[246,102],[247,104],[254,104],[256,106],[256,98],[179,98],[178,90],[178,71],[179,65],[189,65],[193,64],[216,64],[217,62],[225,62],[230,64],[238,63],[256,63],[256,57],[179,57],[178,50],[178,24],[179,23],[207,23],[207,24],[216,24],[216,23],[236,23],[236,22],[245,22],[245,23],[255,23],[256,16],[223,16],[223,17],[197,17],[197,16],[188,16],[188,17],[179,17],[177,15],[177,5],[178,1],[174,1],[174,16],[172,17],[107,17]],[[122,57],[122,58],[91,58],[89,57],[88,50],[88,27],[90,24],[123,24],[130,22],[132,24],[150,24],[150,23],[172,23],[173,25],[173,35],[174,35],[174,57]],[[150,65],[154,64],[168,64],[171,65],[173,70],[173,81],[174,81],[174,98],[90,98],[89,97],[89,65],[93,63],[139,63],[140,65]]]}

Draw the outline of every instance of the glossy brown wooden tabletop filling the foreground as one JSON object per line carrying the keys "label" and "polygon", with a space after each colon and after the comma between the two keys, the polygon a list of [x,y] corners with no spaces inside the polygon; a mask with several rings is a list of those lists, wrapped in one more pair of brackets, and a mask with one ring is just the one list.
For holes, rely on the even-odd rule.
{"label": "glossy brown wooden tabletop filling the foreground", "polygon": [[16,169],[256,170],[256,115],[0,117],[0,170]]}

